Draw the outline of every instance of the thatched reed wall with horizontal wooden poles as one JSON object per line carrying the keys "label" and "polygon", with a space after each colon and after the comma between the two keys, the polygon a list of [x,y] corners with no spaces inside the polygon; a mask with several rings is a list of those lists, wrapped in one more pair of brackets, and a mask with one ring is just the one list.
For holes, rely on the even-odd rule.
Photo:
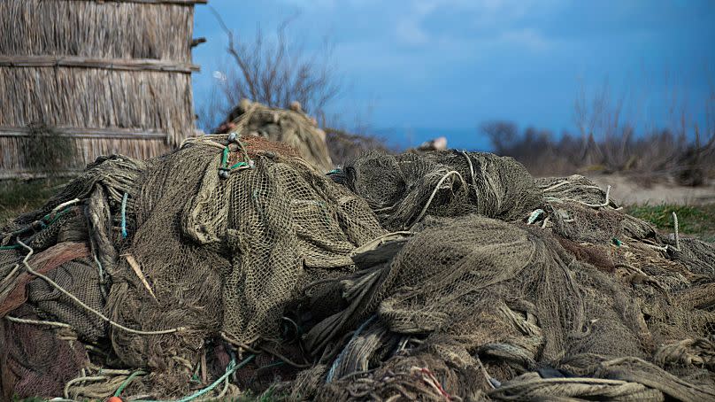
{"label": "thatched reed wall with horizontal wooden poles", "polygon": [[150,158],[194,135],[197,0],[0,1],[0,178],[30,172],[22,146],[42,122],[97,156]]}

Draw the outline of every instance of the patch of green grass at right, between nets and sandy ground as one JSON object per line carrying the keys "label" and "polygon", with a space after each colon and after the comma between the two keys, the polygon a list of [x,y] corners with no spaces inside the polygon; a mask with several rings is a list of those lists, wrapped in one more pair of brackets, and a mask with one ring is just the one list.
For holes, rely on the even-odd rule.
{"label": "patch of green grass at right, between nets and sandy ground", "polygon": [[680,234],[705,242],[715,242],[715,204],[708,205],[631,205],[626,212],[647,220],[665,233],[673,233],[673,212],[678,215]]}

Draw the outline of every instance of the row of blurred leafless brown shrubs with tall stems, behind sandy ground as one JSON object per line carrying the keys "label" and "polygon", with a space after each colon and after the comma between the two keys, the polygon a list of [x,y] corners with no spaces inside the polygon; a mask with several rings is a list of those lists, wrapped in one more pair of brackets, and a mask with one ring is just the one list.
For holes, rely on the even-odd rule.
{"label": "row of blurred leafless brown shrubs with tall stems, behind sandy ground", "polygon": [[574,103],[576,135],[564,133],[557,138],[534,128],[519,133],[508,121],[487,122],[481,126],[481,133],[497,153],[517,158],[534,174],[570,174],[586,169],[702,185],[715,175],[715,87],[704,104],[704,135],[697,124],[690,123],[688,109],[675,95],[669,127],[647,127],[640,135],[625,121],[625,98],[614,101],[607,83],[593,97],[581,90]]}

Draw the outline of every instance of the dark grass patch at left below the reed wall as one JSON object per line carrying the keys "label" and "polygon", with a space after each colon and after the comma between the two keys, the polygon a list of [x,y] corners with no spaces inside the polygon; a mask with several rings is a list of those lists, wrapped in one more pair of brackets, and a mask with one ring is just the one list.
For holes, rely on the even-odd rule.
{"label": "dark grass patch at left below the reed wall", "polygon": [[44,205],[65,182],[58,178],[0,181],[0,226]]}

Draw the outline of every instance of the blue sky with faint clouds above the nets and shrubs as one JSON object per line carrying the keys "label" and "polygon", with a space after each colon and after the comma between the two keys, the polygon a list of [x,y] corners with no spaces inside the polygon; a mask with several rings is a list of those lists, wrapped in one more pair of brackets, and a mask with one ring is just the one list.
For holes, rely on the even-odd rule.
{"label": "blue sky with faint clouds above the nets and shrubs", "polygon": [[[346,90],[333,105],[393,143],[447,135],[485,148],[477,127],[575,130],[580,90],[608,82],[636,125],[666,126],[673,104],[703,121],[715,85],[715,1],[210,0],[235,35],[250,40],[297,14],[289,34],[307,51],[324,38]],[[226,35],[196,6],[196,104],[226,60]]]}

